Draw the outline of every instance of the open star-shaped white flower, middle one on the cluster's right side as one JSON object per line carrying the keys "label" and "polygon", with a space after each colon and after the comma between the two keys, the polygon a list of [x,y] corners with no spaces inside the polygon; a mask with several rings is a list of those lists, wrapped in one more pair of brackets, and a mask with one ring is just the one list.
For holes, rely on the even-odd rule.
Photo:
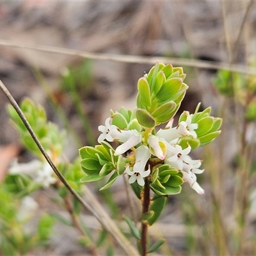
{"label": "open star-shaped white flower, middle one on the cluster's right side", "polygon": [[185,149],[182,149],[180,145],[168,145],[168,158],[166,159],[166,163],[178,168],[179,170],[182,170],[184,162],[189,163],[189,161],[191,161],[191,158],[188,156],[190,150],[191,147],[189,145]]}

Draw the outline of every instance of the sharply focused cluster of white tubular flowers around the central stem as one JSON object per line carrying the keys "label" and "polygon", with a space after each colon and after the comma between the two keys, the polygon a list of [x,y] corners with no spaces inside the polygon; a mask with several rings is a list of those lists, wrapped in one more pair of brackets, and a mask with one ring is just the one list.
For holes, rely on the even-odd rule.
{"label": "sharply focused cluster of white tubular flowers around the central stem", "polygon": [[[147,133],[148,131],[136,131],[134,130],[121,130],[116,125],[111,124],[112,118],[107,118],[105,125],[99,126],[99,131],[102,132],[98,138],[100,143],[102,140],[118,141],[122,143],[115,150],[115,156],[124,154],[128,150],[134,148],[135,161],[134,165],[131,163],[126,164],[125,172],[131,176],[129,183],[135,181],[140,186],[145,184],[143,178],[150,175],[150,165],[147,166],[150,157],[157,157],[164,161],[166,164],[170,164],[173,168],[177,168],[179,172],[183,174],[184,182],[188,182],[191,188],[195,189],[199,194],[204,194],[202,189],[196,182],[195,173],[202,173],[204,170],[199,170],[198,167],[201,164],[200,160],[192,160],[188,154],[191,151],[191,147],[182,149],[178,140],[182,136],[192,136],[196,138],[195,130],[198,128],[198,124],[191,124],[191,115],[185,112],[187,115],[186,121],[182,121],[177,127],[172,127],[171,120],[164,129],[160,129],[156,135]],[[147,169],[147,170],[145,170]]]}

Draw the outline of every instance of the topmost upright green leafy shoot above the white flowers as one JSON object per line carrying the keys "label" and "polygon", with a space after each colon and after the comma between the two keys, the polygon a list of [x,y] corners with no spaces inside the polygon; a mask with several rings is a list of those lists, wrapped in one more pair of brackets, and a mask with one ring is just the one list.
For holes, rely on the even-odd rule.
{"label": "topmost upright green leafy shoot above the white flowers", "polygon": [[184,78],[182,68],[157,63],[139,79],[136,117],[141,126],[151,128],[175,115],[188,89]]}

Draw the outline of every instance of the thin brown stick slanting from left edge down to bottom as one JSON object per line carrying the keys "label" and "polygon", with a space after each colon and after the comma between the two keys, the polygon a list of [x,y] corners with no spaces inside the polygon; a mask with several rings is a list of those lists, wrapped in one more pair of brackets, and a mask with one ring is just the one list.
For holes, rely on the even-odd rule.
{"label": "thin brown stick slanting from left edge down to bottom", "polygon": [[31,135],[31,137],[33,138],[33,140],[35,141],[37,147],[40,149],[40,151],[42,152],[43,156],[45,157],[47,162],[50,164],[52,170],[54,171],[54,173],[56,173],[57,177],[65,185],[65,187],[68,189],[68,191],[70,191],[70,193],[72,193],[72,195],[74,195],[77,198],[77,200],[83,205],[84,209],[86,209],[93,216],[95,216],[95,218],[99,221],[99,223],[102,225],[102,227],[104,227],[109,232],[109,234],[111,234],[111,236],[113,236],[113,238],[115,239],[116,243],[119,244],[119,246],[124,250],[124,252],[127,255],[140,255],[136,251],[136,249],[131,245],[131,243],[129,243],[129,241],[126,239],[126,237],[116,227],[115,223],[113,223],[113,221],[111,221],[111,218],[109,218],[110,223],[106,222],[105,219],[102,218],[98,214],[98,212],[94,211],[94,209],[92,207],[90,207],[90,205],[88,205],[83,200],[83,198],[70,186],[70,184],[67,182],[67,180],[62,175],[60,170],[58,170],[58,168],[55,166],[55,164],[52,163],[51,158],[48,156],[47,152],[45,152],[44,147],[42,146],[42,144],[38,140],[35,132],[31,128],[31,126],[29,125],[29,122],[26,119],[26,116],[24,116],[24,114],[22,113],[22,110],[20,109],[19,105],[17,104],[15,99],[13,99],[12,94],[9,92],[9,90],[6,88],[6,86],[3,84],[3,82],[1,80],[0,80],[0,88],[3,91],[4,95],[6,95],[6,97],[10,101],[10,104],[12,104],[13,108],[15,109],[15,111],[17,111],[18,115],[20,116],[20,119],[22,120],[22,122],[24,123],[26,128],[28,129],[28,132]]}

